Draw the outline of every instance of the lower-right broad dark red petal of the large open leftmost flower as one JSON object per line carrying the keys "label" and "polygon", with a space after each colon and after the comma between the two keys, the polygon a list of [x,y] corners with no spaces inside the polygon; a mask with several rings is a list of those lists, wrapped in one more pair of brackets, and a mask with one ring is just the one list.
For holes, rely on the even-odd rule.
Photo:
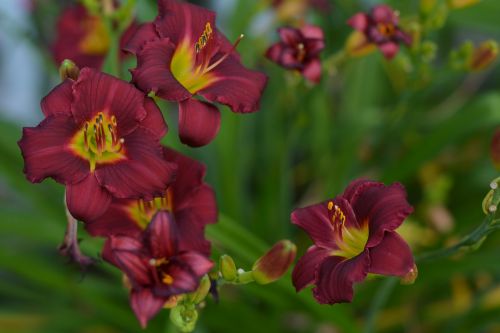
{"label": "lower-right broad dark red petal of the large open leftmost flower", "polygon": [[97,166],[99,183],[116,198],[163,197],[175,177],[176,166],[163,159],[158,140],[146,129],[137,128],[125,137],[127,160]]}

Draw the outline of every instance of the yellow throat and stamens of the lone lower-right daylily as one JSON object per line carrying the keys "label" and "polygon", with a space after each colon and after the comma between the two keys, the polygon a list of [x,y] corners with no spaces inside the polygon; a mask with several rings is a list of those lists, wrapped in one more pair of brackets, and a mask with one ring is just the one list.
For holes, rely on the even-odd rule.
{"label": "yellow throat and stamens of the lone lower-right daylily", "polygon": [[334,229],[335,243],[338,246],[338,249],[332,251],[332,255],[347,259],[356,257],[364,251],[368,241],[368,223],[364,222],[359,229],[347,227],[346,216],[339,206],[330,201],[328,210]]}

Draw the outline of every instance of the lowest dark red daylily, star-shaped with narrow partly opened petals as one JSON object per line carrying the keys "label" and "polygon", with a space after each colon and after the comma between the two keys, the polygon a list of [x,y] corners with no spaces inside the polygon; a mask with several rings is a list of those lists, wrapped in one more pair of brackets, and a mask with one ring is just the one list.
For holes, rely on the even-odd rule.
{"label": "lowest dark red daylily, star-shaped with narrow partly opened petals", "polygon": [[160,211],[139,238],[111,236],[104,245],[103,258],[130,281],[130,305],[142,327],[170,297],[195,291],[213,266],[199,252],[181,251],[182,241],[173,215]]}

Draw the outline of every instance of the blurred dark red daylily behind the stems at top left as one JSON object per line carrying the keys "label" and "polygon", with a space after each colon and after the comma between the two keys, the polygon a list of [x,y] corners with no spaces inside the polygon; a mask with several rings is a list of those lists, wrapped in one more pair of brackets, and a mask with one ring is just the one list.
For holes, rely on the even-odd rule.
{"label": "blurred dark red daylily behind the stems at top left", "polygon": [[[120,45],[123,47],[137,30],[132,23],[123,33]],[[100,69],[108,54],[111,37],[98,16],[87,12],[82,5],[66,8],[57,23],[57,38],[52,46],[54,60],[60,64],[71,59],[79,67]],[[123,58],[125,54],[121,54]]]}

